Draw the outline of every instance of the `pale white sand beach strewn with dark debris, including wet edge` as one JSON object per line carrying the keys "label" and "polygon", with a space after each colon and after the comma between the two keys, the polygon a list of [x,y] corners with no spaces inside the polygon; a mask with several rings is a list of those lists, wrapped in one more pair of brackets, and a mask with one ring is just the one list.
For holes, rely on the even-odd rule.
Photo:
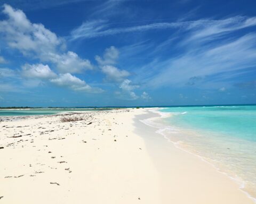
{"label": "pale white sand beach strewn with dark debris, including wet edge", "polygon": [[142,124],[145,113],[0,122],[0,203],[253,203],[226,175]]}

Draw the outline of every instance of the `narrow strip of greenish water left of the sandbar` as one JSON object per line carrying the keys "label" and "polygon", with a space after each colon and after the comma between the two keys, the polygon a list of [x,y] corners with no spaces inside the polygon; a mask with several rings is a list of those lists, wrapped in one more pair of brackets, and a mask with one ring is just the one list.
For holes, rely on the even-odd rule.
{"label": "narrow strip of greenish water left of the sandbar", "polygon": [[0,109],[1,116],[51,115],[72,111],[94,111],[93,108],[33,108],[33,109]]}

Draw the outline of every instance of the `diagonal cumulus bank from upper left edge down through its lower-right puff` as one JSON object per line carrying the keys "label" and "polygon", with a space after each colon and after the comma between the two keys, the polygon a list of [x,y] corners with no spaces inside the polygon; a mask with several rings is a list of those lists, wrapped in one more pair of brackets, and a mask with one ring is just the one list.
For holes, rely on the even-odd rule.
{"label": "diagonal cumulus bank from upper left edge down through its lower-right puff", "polygon": [[83,60],[74,52],[64,52],[63,38],[46,29],[41,23],[31,23],[23,11],[4,4],[6,20],[0,21],[0,39],[7,46],[18,49],[23,55],[54,63],[61,73],[81,73],[93,69],[89,60]]}

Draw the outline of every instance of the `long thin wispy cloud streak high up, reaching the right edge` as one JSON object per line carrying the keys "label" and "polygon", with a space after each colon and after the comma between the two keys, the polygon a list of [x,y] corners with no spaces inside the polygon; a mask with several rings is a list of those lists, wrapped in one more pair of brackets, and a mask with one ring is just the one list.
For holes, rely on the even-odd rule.
{"label": "long thin wispy cloud streak high up, reaching the right edge", "polygon": [[194,37],[200,38],[214,34],[216,35],[218,33],[239,30],[254,25],[256,25],[255,17],[246,18],[243,16],[235,16],[232,18],[222,20],[197,20],[183,22],[150,23],[145,25],[135,25],[131,27],[119,28],[109,28],[110,24],[108,24],[107,21],[99,20],[84,22],[80,27],[74,29],[71,32],[71,40],[117,35],[127,32],[142,32],[148,30],[175,28],[180,28],[183,30],[195,29]]}

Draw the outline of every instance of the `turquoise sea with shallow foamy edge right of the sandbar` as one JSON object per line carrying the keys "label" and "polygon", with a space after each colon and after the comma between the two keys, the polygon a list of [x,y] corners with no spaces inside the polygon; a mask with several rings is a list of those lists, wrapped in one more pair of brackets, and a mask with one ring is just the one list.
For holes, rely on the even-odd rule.
{"label": "turquoise sea with shallow foamy edge right of the sandbar", "polygon": [[[147,124],[178,147],[213,164],[256,198],[256,105],[155,109]],[[255,200],[256,201],[256,200]]]}

